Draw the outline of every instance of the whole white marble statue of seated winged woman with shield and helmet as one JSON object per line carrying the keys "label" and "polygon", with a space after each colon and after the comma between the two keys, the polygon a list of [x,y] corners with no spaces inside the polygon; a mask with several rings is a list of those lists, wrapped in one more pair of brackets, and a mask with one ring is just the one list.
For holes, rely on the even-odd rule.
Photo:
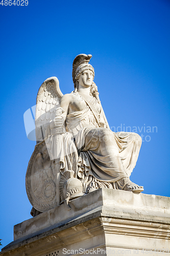
{"label": "whole white marble statue of seated winged woman with shield and helmet", "polygon": [[46,79],[37,95],[36,139],[26,188],[32,215],[105,187],[140,193],[130,175],[141,137],[110,130],[98,88],[92,56],[78,55],[72,65],[75,90],[63,95],[56,77]]}

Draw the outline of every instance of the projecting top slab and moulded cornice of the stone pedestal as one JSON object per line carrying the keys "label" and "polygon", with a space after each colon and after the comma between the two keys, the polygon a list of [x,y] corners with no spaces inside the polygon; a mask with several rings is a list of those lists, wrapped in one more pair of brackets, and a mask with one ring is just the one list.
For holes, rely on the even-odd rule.
{"label": "projecting top slab and moulded cornice of the stone pedestal", "polygon": [[[53,240],[57,242],[60,232],[70,228],[72,230],[72,227],[81,226],[81,223],[87,224],[87,222],[90,222],[88,224],[88,226],[91,225],[90,229],[94,229],[98,223],[97,229],[100,233],[126,233],[128,236],[167,239],[170,235],[169,203],[170,198],[167,197],[136,195],[128,191],[101,188],[72,200],[69,203],[71,210],[65,209],[62,204],[15,225],[15,240],[4,247],[2,252],[24,248],[34,243],[42,246],[45,241],[51,241],[52,245]],[[89,230],[84,226],[81,232],[82,230],[87,239]],[[76,232],[75,235],[77,236],[78,233]],[[72,237],[69,238],[72,243],[71,239]],[[61,242],[61,238],[59,241]],[[63,243],[66,243],[64,233],[61,244]]]}

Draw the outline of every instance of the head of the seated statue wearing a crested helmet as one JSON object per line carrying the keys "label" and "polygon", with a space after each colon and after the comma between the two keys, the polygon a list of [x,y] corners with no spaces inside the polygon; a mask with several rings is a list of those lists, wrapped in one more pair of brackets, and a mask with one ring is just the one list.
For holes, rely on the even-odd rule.
{"label": "head of the seated statue wearing a crested helmet", "polygon": [[[72,63],[72,80],[74,82],[75,91],[78,90],[79,79],[83,79],[83,75],[87,73],[90,76],[89,82],[92,84],[94,79],[94,68],[88,63],[91,57],[91,54],[79,54]],[[89,84],[89,86],[91,86],[91,84]]]}

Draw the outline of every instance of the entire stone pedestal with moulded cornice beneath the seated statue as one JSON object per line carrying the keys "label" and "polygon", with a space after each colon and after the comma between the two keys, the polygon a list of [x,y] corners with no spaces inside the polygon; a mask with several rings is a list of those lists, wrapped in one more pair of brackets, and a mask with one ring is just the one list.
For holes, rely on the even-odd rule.
{"label": "entire stone pedestal with moulded cornice beneath the seated statue", "polygon": [[101,188],[14,226],[0,255],[170,255],[170,198]]}

